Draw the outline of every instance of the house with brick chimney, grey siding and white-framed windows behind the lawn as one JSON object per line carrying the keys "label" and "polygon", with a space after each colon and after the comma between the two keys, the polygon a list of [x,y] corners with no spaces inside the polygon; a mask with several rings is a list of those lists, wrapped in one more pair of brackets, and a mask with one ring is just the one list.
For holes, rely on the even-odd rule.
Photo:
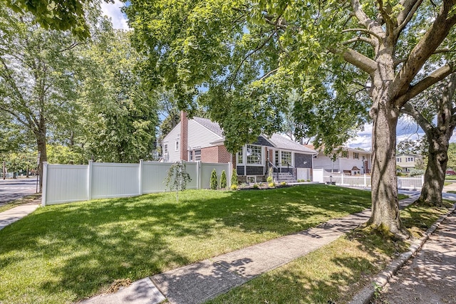
{"label": "house with brick chimney, grey siding and white-framed windows behind the lawn", "polygon": [[185,112],[162,145],[165,162],[232,162],[241,182],[265,182],[269,170],[275,172],[277,181],[311,179],[312,159],[317,154],[279,134],[259,135],[256,142],[230,154],[217,122],[202,117],[188,119]]}

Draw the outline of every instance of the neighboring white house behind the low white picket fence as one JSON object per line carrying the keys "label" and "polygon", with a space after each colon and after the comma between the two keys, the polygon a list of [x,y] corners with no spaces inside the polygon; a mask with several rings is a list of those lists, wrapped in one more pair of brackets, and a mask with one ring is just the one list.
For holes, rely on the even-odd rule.
{"label": "neighboring white house behind the low white picket fence", "polygon": [[[306,145],[306,147],[314,149],[313,145]],[[325,155],[323,149],[318,150],[318,155],[314,158],[314,169],[324,169],[326,172],[347,175],[371,173],[371,152],[339,147],[333,150],[333,154],[336,154],[334,160],[331,155]]]}

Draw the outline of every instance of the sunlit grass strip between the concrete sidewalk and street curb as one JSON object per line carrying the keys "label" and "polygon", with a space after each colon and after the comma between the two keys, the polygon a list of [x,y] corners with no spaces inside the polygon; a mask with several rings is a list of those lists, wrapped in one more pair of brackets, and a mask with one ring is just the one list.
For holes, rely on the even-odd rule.
{"label": "sunlit grass strip between the concrete sidewalk and street curb", "polygon": [[[413,205],[400,212],[405,226],[420,237],[447,209]],[[348,303],[408,246],[378,231],[356,230],[207,304]]]}

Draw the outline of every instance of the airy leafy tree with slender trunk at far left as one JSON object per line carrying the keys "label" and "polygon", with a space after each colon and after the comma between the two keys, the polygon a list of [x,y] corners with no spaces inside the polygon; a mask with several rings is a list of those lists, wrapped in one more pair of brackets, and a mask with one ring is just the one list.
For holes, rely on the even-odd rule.
{"label": "airy leafy tree with slender trunk at far left", "polygon": [[33,134],[45,162],[48,127],[66,120],[76,100],[78,43],[5,6],[0,7],[0,36],[0,112]]}

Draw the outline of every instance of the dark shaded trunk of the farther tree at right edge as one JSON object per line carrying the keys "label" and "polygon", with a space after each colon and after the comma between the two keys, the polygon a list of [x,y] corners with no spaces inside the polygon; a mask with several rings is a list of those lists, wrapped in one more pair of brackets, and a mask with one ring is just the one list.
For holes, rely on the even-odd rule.
{"label": "dark shaded trunk of the farther tree at right edge", "polygon": [[[445,134],[436,134],[427,132],[427,140],[429,140],[428,160],[425,172],[425,180],[421,188],[420,198],[418,203],[429,204],[434,206],[442,205],[442,189],[445,182],[445,172],[448,162],[448,145],[450,138],[446,138]],[[429,137],[431,135],[431,137]]]}

